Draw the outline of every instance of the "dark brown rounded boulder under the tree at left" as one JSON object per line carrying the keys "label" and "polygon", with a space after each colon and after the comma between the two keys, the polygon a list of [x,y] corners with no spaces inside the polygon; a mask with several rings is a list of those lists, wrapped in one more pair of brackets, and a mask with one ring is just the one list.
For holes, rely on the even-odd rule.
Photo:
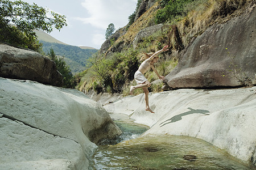
{"label": "dark brown rounded boulder under the tree at left", "polygon": [[33,80],[52,86],[63,84],[55,62],[28,49],[0,43],[0,76],[3,78]]}

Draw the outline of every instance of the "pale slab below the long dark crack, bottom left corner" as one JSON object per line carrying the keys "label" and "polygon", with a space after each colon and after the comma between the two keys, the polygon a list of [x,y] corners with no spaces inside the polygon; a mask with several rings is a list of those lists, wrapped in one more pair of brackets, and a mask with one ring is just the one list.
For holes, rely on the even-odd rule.
{"label": "pale slab below the long dark crack, bottom left corner", "polygon": [[4,117],[0,141],[0,169],[86,169],[89,165],[79,143]]}

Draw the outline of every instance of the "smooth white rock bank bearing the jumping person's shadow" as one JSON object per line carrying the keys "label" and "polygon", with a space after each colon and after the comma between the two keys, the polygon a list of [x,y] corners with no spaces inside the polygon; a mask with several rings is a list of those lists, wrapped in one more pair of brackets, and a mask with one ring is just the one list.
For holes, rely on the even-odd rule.
{"label": "smooth white rock bank bearing the jumping person's shadow", "polygon": [[256,166],[256,87],[226,90],[180,89],[126,97],[104,107],[150,126],[143,136],[187,135],[203,139]]}

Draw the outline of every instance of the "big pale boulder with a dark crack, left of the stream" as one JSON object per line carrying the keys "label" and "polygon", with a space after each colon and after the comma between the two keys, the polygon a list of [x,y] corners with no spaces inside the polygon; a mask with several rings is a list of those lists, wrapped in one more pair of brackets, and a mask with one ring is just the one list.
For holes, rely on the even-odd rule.
{"label": "big pale boulder with a dark crack, left of the stream", "polygon": [[88,169],[101,139],[121,131],[78,90],[0,78],[0,169]]}

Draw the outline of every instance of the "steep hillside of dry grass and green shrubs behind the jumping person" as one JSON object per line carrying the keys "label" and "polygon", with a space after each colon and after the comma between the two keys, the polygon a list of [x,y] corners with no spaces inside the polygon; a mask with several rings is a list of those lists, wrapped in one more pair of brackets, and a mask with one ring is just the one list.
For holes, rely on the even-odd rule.
{"label": "steep hillside of dry grass and green shrubs behind the jumping person", "polygon": [[[135,71],[142,61],[140,54],[155,52],[164,45],[170,50],[160,54],[155,67],[160,75],[166,76],[177,65],[179,54],[191,40],[203,33],[214,23],[224,23],[240,15],[254,1],[246,0],[159,0],[129,27],[119,29],[120,37],[111,44],[108,51],[91,60],[92,67],[82,74],[77,88],[80,91],[93,89],[98,92],[122,92],[128,95]],[[136,11],[135,11],[136,12]],[[159,31],[144,36],[136,46],[135,37],[144,28],[163,24]],[[158,79],[153,71],[145,74],[153,82]],[[159,92],[163,83],[155,83],[150,91]],[[139,94],[142,91],[135,91]]]}

